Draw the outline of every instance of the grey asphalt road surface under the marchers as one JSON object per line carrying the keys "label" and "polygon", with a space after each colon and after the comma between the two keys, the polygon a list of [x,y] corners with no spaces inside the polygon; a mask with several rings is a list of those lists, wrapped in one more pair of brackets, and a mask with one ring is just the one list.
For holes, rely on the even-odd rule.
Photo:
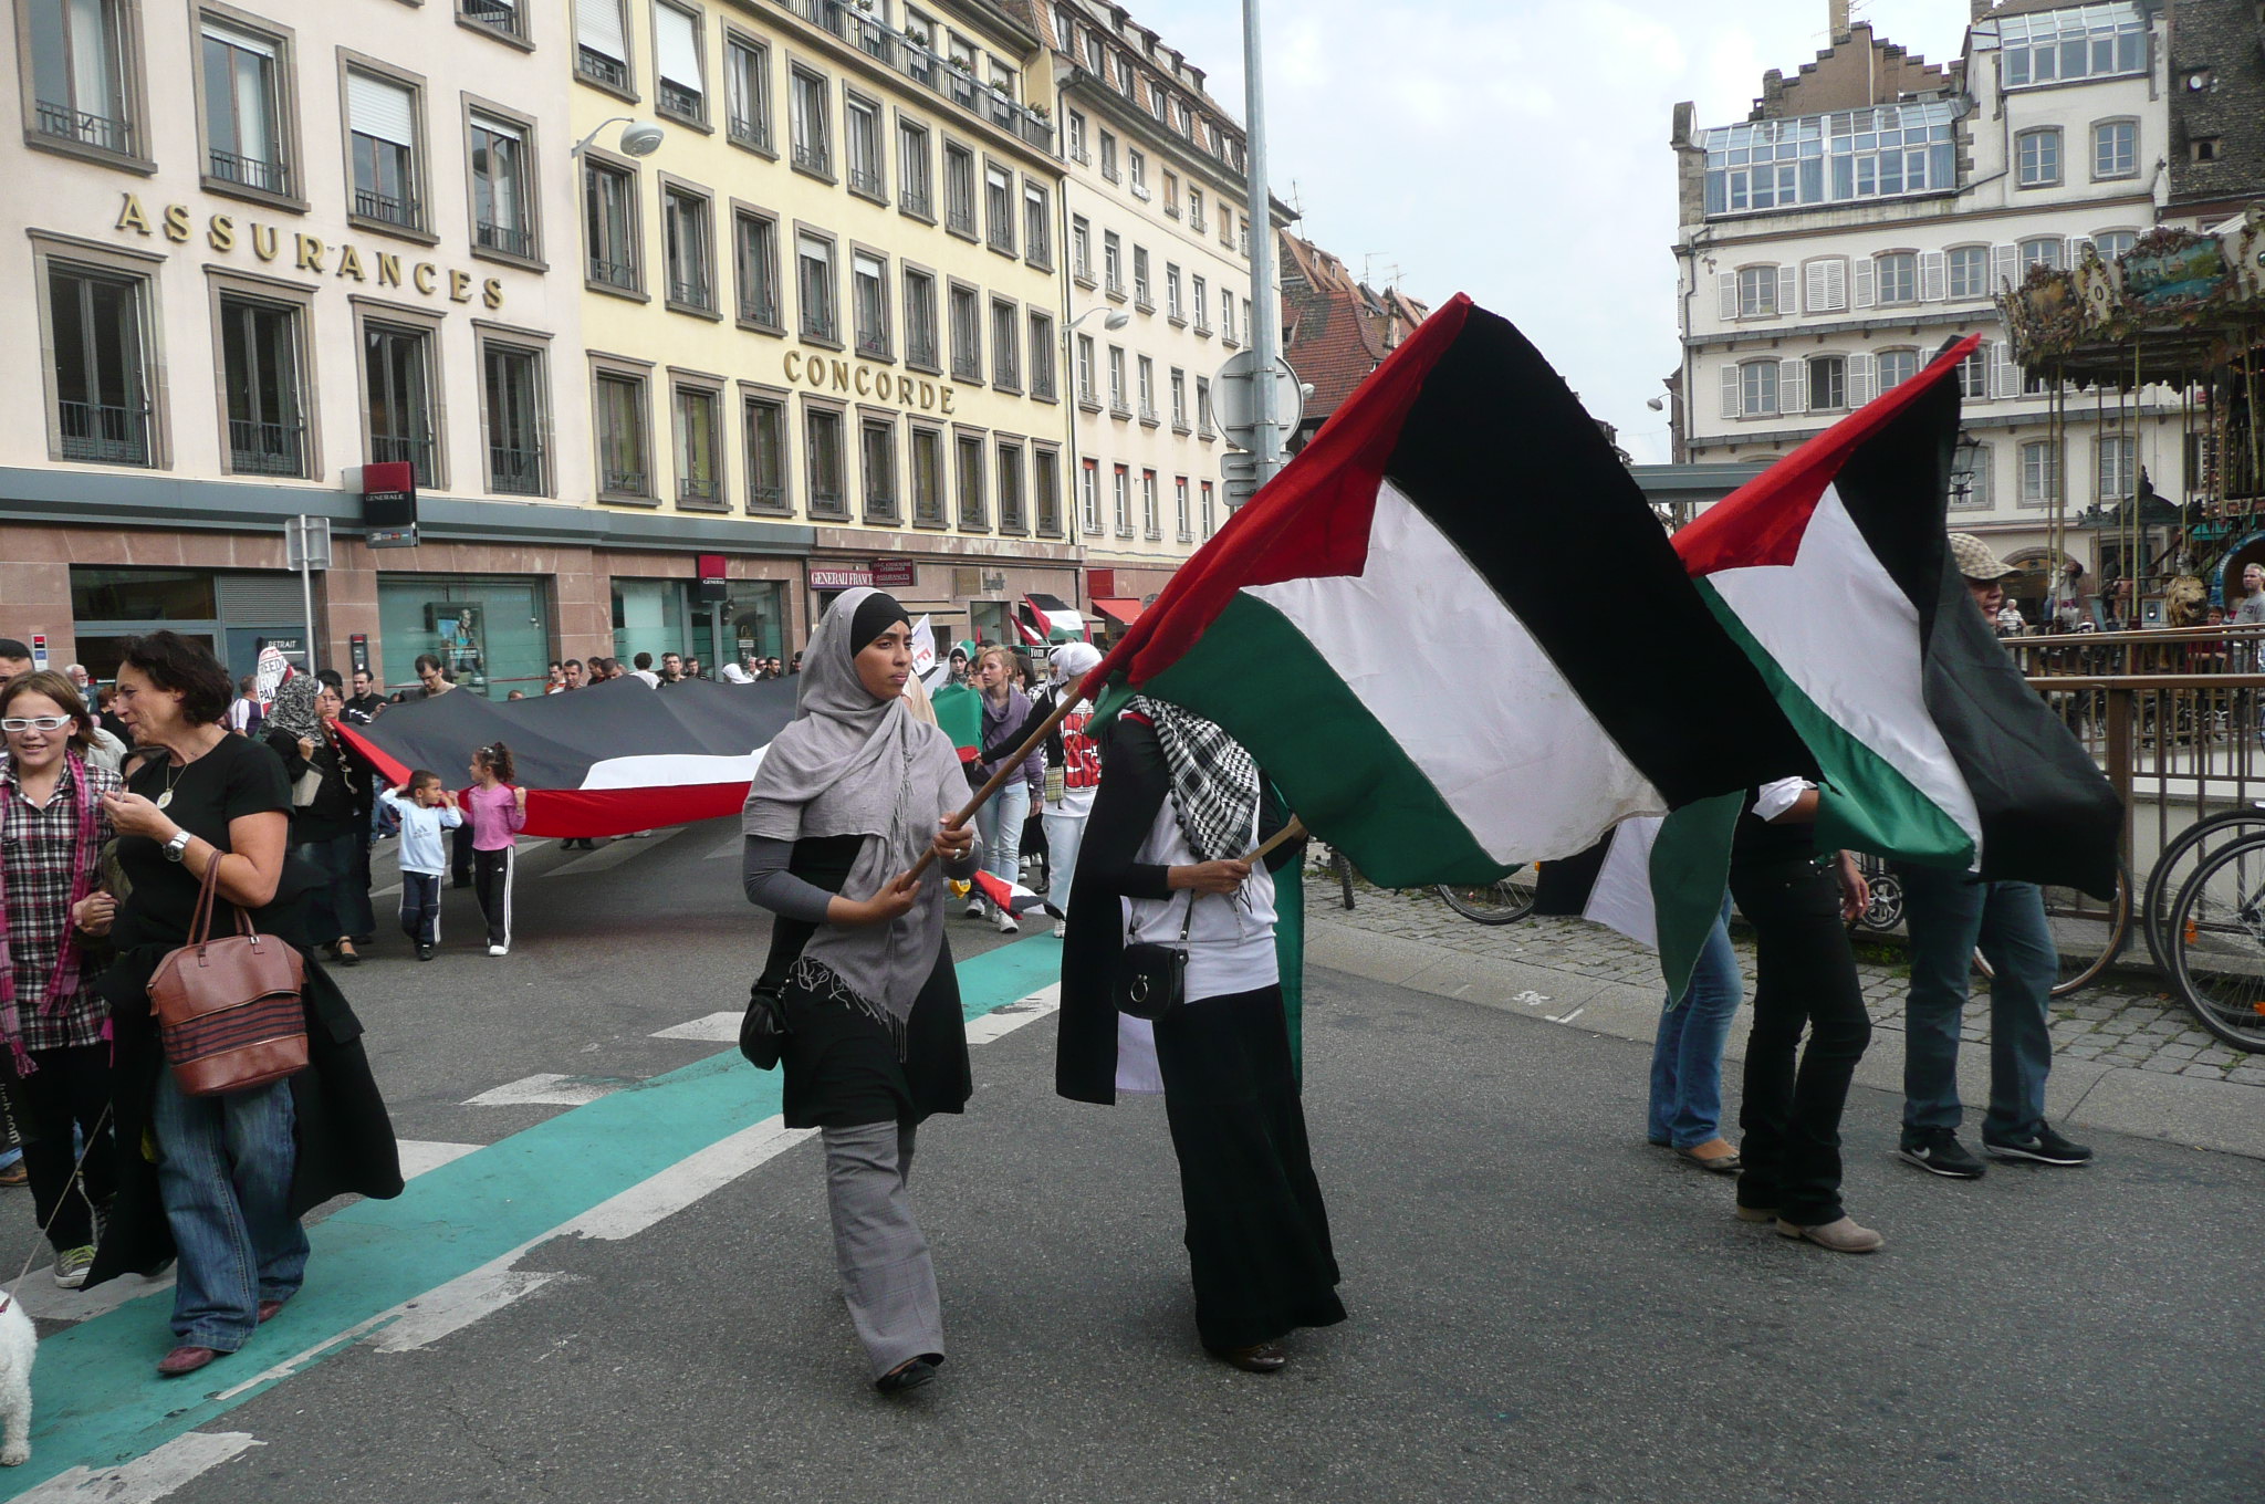
{"label": "grey asphalt road surface under the marchers", "polygon": [[[401,1135],[494,1144],[578,1112],[464,1105],[498,1083],[720,1049],[650,1037],[734,1008],[759,954],[720,840],[532,879],[507,960],[360,967]],[[976,933],[954,922],[963,956]],[[2088,1171],[1952,1185],[1896,1164],[1896,1103],[1860,1092],[1848,1203],[1889,1241],[1835,1257],[1737,1223],[1726,1182],[1642,1144],[1640,1046],[1318,974],[1307,1112],[1352,1318],[1248,1377],[1194,1341],[1162,1112],[1058,1101],[1051,1046],[1044,1017],[981,1044],[969,1114],[922,1139],[951,1339],[926,1391],[863,1382],[800,1144],[634,1237],[530,1248],[516,1266],[557,1277],[453,1334],[254,1393],[202,1432],[258,1445],[170,1497],[2265,1493],[2260,1162],[2102,1139]]]}

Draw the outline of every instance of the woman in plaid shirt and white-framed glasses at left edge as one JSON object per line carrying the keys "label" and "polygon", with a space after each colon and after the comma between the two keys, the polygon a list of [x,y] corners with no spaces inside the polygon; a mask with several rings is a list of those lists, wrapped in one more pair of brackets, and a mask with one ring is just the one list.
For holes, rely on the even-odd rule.
{"label": "woman in plaid shirt and white-framed glasses at left edge", "polygon": [[[93,716],[70,680],[25,673],[0,684],[0,1071],[23,1114],[23,1167],[39,1225],[54,1246],[54,1282],[86,1284],[95,1214],[116,1189],[109,1003],[95,988],[116,901],[102,892],[120,779],[91,761]],[[86,1139],[86,1162],[72,1137]],[[72,1167],[79,1180],[72,1182]]]}

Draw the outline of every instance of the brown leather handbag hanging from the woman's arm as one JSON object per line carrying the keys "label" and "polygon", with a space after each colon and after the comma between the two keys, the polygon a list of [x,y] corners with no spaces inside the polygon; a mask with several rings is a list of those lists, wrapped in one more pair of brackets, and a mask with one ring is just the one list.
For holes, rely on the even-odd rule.
{"label": "brown leather handbag hanging from the woman's arm", "polygon": [[263,935],[242,908],[236,933],[211,938],[220,858],[204,870],[188,945],[149,974],[149,1012],[181,1096],[249,1092],[306,1069],[306,960]]}

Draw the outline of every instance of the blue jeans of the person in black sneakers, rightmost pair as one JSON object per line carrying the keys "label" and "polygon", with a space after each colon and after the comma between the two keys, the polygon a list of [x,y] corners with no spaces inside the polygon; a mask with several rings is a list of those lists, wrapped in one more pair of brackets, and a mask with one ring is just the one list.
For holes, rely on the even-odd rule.
{"label": "blue jeans of the person in black sneakers, rightmost pair", "polygon": [[1903,1126],[1959,1126],[1959,1026],[1975,947],[1998,972],[1989,988],[1989,1117],[1984,1139],[2034,1133],[2045,1121],[2052,1069],[2048,1006],[2061,958],[2036,883],[1977,883],[1964,872],[1896,863],[1912,929],[1912,997],[1905,1006]]}

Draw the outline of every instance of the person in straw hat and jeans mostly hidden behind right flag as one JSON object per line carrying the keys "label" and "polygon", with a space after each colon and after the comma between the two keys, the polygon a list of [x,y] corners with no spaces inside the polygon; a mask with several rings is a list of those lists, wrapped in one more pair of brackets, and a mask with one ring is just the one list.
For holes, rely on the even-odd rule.
{"label": "person in straw hat and jeans mostly hidden behind right flag", "polygon": [[[1995,621],[2014,566],[1973,532],[1950,535],[1950,559],[1966,578],[1975,609]],[[1984,1153],[2029,1164],[2091,1164],[2091,1148],[2045,1121],[2045,1076],[2052,1069],[2048,1008],[2061,960],[2045,922],[2043,890],[1907,861],[1891,868],[1903,881],[1903,917],[1912,931],[1898,1157],[1948,1180],[1982,1176],[1982,1160],[1959,1144],[1957,1133],[1964,1117],[1959,1031],[1980,947],[1995,972],[1989,988]]]}

